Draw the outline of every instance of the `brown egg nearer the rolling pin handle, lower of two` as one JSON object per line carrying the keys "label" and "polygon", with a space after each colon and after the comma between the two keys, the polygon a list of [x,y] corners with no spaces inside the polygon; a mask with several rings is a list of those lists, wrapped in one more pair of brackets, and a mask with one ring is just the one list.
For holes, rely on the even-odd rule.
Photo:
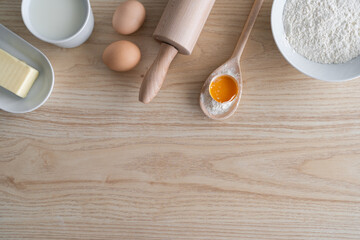
{"label": "brown egg nearer the rolling pin handle, lower of two", "polygon": [[133,69],[141,58],[140,49],[129,41],[110,44],[103,53],[103,61],[111,70],[126,72]]}

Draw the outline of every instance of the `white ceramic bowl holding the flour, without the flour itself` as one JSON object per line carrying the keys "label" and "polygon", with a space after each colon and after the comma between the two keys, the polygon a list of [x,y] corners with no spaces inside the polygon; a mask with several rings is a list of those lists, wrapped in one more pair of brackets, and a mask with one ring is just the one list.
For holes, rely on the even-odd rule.
{"label": "white ceramic bowl holding the flour, without the flour itself", "polygon": [[341,82],[360,77],[360,56],[344,64],[320,64],[296,53],[285,38],[283,12],[286,0],[274,0],[271,28],[275,42],[285,59],[300,72],[324,81]]}

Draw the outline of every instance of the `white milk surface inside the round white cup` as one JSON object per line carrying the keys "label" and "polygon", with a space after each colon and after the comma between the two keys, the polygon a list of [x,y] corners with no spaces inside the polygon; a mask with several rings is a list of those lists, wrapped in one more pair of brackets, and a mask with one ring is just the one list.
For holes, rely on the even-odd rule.
{"label": "white milk surface inside the round white cup", "polygon": [[51,40],[66,39],[77,33],[86,20],[85,0],[32,0],[30,23],[41,36]]}

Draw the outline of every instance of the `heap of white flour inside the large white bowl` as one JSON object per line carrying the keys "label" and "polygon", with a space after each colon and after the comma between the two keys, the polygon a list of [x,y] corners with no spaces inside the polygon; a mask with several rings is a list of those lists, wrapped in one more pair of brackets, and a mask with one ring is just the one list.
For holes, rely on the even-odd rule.
{"label": "heap of white flour inside the large white bowl", "polygon": [[287,0],[286,38],[305,58],[325,64],[360,55],[360,0]]}

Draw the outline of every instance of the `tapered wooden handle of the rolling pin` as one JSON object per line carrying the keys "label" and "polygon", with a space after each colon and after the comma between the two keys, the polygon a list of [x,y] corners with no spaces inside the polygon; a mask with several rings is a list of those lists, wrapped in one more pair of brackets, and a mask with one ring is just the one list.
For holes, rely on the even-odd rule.
{"label": "tapered wooden handle of the rolling pin", "polygon": [[145,74],[141,84],[139,101],[149,103],[158,94],[165,80],[171,62],[174,60],[178,50],[166,43],[162,43],[160,51],[154,63]]}

